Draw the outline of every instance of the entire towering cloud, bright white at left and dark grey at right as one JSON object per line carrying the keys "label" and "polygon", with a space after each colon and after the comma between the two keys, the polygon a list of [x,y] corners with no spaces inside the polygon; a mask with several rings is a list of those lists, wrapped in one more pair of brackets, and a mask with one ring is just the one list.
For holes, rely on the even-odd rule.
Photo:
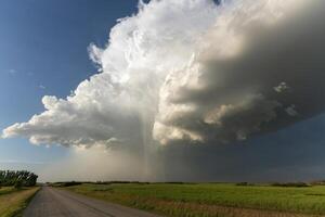
{"label": "entire towering cloud, bright white at left and dark grey at right", "polygon": [[3,137],[220,144],[314,116],[325,107],[324,10],[321,0],[141,2],[104,49],[89,47],[99,74],[66,99],[46,95],[43,113]]}

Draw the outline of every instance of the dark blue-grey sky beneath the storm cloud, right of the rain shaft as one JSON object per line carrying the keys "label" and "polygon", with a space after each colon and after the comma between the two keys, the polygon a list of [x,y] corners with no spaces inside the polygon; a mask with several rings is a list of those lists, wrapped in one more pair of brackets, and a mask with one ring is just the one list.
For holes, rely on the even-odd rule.
{"label": "dark blue-grey sky beneath the storm cloud, right of the rain shaft", "polygon": [[[162,180],[314,181],[324,179],[324,115],[227,145],[171,144],[160,151]],[[164,161],[165,159],[165,161]]]}

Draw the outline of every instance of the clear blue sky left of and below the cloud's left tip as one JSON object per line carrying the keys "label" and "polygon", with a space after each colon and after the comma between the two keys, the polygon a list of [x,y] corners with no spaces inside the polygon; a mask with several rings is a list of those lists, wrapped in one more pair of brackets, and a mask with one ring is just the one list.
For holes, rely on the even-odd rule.
{"label": "clear blue sky left of and below the cloud's left tip", "polygon": [[[28,120],[43,111],[44,94],[65,98],[96,72],[88,46],[104,46],[116,20],[134,13],[136,2],[1,1],[0,128]],[[36,146],[26,139],[0,140],[0,168],[32,168],[68,154],[68,149]]]}

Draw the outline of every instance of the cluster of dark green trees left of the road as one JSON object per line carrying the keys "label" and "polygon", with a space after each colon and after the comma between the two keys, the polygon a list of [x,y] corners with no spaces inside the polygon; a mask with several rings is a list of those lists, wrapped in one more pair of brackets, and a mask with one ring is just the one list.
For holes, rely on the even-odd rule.
{"label": "cluster of dark green trees left of the road", "polygon": [[34,187],[38,176],[26,170],[0,170],[0,187]]}

